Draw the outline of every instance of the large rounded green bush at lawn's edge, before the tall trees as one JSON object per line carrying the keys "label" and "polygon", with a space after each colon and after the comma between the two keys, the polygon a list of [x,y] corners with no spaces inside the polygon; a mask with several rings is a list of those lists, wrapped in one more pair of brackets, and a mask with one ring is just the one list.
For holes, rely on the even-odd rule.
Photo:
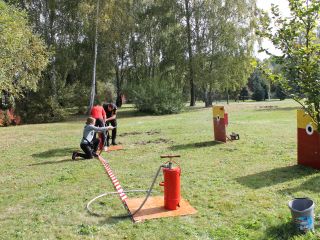
{"label": "large rounded green bush at lawn's edge, before the tall trees", "polygon": [[172,85],[159,78],[146,80],[133,90],[135,107],[141,112],[159,115],[180,112],[184,106],[182,91]]}

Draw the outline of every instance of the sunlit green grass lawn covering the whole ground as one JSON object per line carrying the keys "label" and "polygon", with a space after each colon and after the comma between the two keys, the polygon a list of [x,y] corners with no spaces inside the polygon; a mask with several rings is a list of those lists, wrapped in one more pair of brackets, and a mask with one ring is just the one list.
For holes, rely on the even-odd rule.
{"label": "sunlit green grass lawn covering the whole ground", "polygon": [[[124,106],[118,141],[125,150],[104,153],[121,185],[148,188],[159,156],[181,154],[182,196],[198,211],[139,224],[112,217],[125,213],[117,197],[93,205],[102,217],[86,212],[90,199],[113,187],[98,160],[71,160],[84,118],[0,128],[0,239],[319,239],[318,226],[295,234],[287,207],[308,196],[316,215],[320,209],[320,173],[296,165],[297,107],[231,103],[228,131],[240,141],[218,144],[209,108],[144,116]],[[159,186],[154,195],[162,195]]]}

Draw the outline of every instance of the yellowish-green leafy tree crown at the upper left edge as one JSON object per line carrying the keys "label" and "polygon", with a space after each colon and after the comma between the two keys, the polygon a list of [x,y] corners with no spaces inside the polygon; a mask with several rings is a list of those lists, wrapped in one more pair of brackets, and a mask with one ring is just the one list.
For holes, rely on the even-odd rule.
{"label": "yellowish-green leafy tree crown at the upper left edge", "polygon": [[33,34],[27,14],[0,0],[0,93],[15,99],[36,91],[49,53]]}

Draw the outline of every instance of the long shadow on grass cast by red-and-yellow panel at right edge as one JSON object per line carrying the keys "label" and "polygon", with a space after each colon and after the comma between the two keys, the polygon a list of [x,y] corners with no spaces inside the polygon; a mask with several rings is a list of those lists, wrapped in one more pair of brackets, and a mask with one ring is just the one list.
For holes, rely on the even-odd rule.
{"label": "long shadow on grass cast by red-and-yellow panel at right edge", "polygon": [[247,187],[257,189],[272,186],[278,183],[287,182],[316,173],[312,168],[303,167],[301,165],[274,168],[269,171],[255,173],[243,177],[236,178],[236,181]]}

